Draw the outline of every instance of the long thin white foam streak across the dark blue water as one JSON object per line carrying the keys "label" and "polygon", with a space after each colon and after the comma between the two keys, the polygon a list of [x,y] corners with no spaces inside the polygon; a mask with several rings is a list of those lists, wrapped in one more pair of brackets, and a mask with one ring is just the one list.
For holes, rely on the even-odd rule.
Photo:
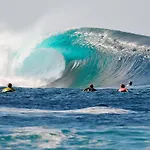
{"label": "long thin white foam streak across the dark blue water", "polygon": [[8,108],[0,107],[0,115],[57,115],[57,114],[127,114],[130,110],[112,108],[112,107],[88,107],[75,110],[41,110],[41,109],[25,109],[25,108]]}

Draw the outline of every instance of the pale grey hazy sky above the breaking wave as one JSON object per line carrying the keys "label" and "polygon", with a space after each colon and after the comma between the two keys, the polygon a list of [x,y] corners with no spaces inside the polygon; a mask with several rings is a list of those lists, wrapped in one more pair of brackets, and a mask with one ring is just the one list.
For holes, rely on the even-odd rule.
{"label": "pale grey hazy sky above the breaking wave", "polygon": [[99,27],[150,36],[149,7],[150,0],[0,0],[0,28]]}

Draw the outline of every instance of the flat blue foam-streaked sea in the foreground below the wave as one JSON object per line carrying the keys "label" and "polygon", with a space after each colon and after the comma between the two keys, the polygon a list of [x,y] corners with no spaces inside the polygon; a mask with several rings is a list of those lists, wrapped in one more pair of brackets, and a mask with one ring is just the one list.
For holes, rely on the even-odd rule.
{"label": "flat blue foam-streaked sea in the foreground below the wave", "polygon": [[0,93],[1,150],[150,150],[150,87]]}

